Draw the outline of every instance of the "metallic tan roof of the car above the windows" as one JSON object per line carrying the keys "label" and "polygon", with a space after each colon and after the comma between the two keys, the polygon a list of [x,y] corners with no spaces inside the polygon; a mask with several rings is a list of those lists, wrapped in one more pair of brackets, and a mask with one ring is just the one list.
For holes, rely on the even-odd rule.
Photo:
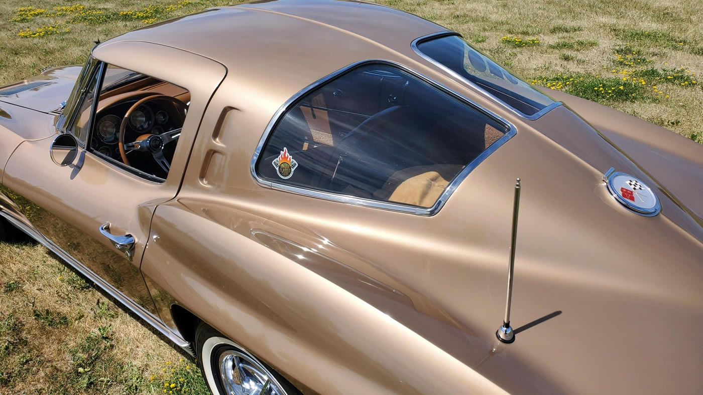
{"label": "metallic tan roof of the car above the windows", "polygon": [[96,49],[117,41],[146,41],[216,60],[228,72],[307,86],[353,62],[412,55],[414,39],[443,30],[418,16],[364,1],[254,1],[143,27]]}

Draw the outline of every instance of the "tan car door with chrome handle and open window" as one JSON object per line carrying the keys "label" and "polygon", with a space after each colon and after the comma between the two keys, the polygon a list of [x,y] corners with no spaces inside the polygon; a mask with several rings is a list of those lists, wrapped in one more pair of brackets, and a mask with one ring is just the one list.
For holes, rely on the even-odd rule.
{"label": "tan car door with chrome handle and open window", "polygon": [[[66,126],[66,131],[82,142],[77,159],[69,166],[53,163],[49,152],[55,138],[23,142],[8,161],[4,186],[22,201],[18,206],[32,226],[79,262],[81,269],[90,270],[116,288],[118,296],[157,316],[139,270],[151,217],[158,204],[176,196],[207,100],[225,70],[217,62],[174,48],[141,42],[110,47],[111,51],[96,48],[93,54],[101,53],[111,60],[110,65],[168,81],[190,93],[188,114],[166,178],[160,180],[117,166],[120,163],[100,154],[90,143],[85,144],[91,138],[86,128],[95,129],[93,118],[103,95],[101,100],[93,100],[96,103],[88,101],[96,86],[101,86],[103,69],[107,69],[107,63],[96,62],[88,74],[93,82],[86,84],[81,90],[83,97],[73,106],[77,113],[89,114],[89,120],[83,128],[72,128],[69,114]],[[145,62],[120,56],[123,52],[141,53]],[[166,64],[165,60],[174,56],[183,60],[183,74],[174,73]],[[200,81],[193,79],[198,72],[207,72],[207,76]]]}

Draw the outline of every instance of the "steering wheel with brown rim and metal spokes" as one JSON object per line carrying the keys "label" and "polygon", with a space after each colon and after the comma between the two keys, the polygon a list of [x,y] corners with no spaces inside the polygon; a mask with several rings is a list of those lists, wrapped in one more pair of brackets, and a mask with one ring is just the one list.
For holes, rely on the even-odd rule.
{"label": "steering wheel with brown rim and metal spokes", "polygon": [[154,157],[156,163],[159,163],[159,166],[161,166],[161,168],[164,169],[166,173],[168,173],[169,168],[171,168],[171,163],[166,160],[163,153],[163,149],[165,145],[167,145],[169,142],[178,140],[178,138],[181,136],[181,129],[183,128],[169,130],[168,132],[161,133],[160,135],[147,133],[139,136],[133,142],[129,142],[127,144],[124,143],[124,134],[127,130],[127,123],[129,123],[129,117],[131,116],[131,113],[134,112],[134,110],[138,109],[139,106],[152,100],[168,100],[169,102],[172,102],[172,104],[176,108],[176,112],[181,115],[180,121],[181,125],[183,124],[183,121],[185,121],[186,119],[185,114],[188,107],[186,107],[186,105],[184,105],[181,100],[172,98],[171,96],[167,95],[147,96],[146,98],[142,98],[141,100],[138,100],[136,103],[134,103],[134,105],[129,107],[127,113],[124,114],[124,118],[122,118],[122,123],[120,123],[120,141],[118,147],[120,148],[120,156],[122,156],[122,162],[124,162],[124,164],[126,164],[127,166],[131,166],[131,164],[129,163],[129,159],[127,159],[127,154],[129,154],[129,152],[148,152],[151,154],[151,156]]}

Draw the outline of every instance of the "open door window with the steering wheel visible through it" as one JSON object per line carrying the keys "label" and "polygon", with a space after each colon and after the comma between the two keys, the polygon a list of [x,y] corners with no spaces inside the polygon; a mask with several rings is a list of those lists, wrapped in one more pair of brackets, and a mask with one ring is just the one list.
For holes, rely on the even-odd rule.
{"label": "open door window with the steering wheel visible through it", "polygon": [[[88,149],[115,166],[155,182],[166,180],[191,95],[185,88],[114,65],[105,65]],[[88,134],[96,83],[76,127]]]}

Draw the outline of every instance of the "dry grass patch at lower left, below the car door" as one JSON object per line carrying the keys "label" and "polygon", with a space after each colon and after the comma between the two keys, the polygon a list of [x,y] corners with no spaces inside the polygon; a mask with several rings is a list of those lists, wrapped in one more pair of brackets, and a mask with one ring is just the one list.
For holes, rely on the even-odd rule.
{"label": "dry grass patch at lower left, below the car door", "polygon": [[0,393],[207,393],[193,361],[43,246],[1,242],[0,262]]}

